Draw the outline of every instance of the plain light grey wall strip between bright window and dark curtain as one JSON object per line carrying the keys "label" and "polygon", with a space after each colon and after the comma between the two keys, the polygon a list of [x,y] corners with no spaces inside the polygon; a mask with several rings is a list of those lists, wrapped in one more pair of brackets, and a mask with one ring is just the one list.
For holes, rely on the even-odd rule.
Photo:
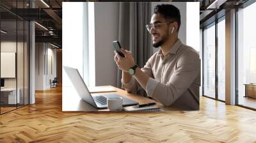
{"label": "plain light grey wall strip between bright window and dark curtain", "polygon": [[115,86],[112,41],[118,40],[118,3],[95,3],[95,85]]}

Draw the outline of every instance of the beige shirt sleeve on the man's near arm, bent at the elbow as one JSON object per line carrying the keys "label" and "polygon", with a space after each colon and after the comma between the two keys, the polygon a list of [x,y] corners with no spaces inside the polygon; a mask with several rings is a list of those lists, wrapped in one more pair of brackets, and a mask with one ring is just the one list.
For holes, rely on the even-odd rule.
{"label": "beige shirt sleeve on the man's near arm, bent at the elbow", "polygon": [[166,84],[149,79],[146,91],[154,100],[168,107],[189,89],[199,75],[200,59],[198,54],[187,52],[180,56],[175,72]]}

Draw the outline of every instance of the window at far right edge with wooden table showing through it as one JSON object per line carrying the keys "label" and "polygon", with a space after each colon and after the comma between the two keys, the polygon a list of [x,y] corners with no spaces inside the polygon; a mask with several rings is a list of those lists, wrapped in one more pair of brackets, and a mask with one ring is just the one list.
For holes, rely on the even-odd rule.
{"label": "window at far right edge with wooden table showing through it", "polygon": [[[237,11],[238,104],[256,109],[256,3]],[[255,96],[256,97],[256,96]]]}

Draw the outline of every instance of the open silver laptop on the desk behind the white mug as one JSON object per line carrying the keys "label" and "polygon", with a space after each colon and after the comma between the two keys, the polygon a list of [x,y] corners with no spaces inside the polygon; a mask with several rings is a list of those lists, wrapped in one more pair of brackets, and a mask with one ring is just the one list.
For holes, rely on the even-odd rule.
{"label": "open silver laptop on the desk behind the white mug", "polygon": [[63,66],[65,72],[67,73],[69,79],[71,80],[72,84],[74,85],[77,93],[81,97],[84,102],[89,103],[93,107],[97,109],[106,109],[107,106],[107,98],[111,97],[122,97],[123,98],[123,106],[131,106],[131,105],[138,105],[138,102],[135,102],[134,100],[130,100],[128,98],[125,98],[122,95],[119,94],[101,94],[99,96],[92,96],[90,91],[88,90],[88,87],[84,83],[84,80],[82,79],[80,73],[76,68],[70,68],[67,66]]}

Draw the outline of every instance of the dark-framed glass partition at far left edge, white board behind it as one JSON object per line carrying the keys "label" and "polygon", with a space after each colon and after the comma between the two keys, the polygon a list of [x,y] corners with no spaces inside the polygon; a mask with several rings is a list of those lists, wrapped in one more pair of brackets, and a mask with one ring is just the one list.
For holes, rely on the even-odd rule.
{"label": "dark-framed glass partition at far left edge, white board behind it", "polygon": [[[13,10],[27,8],[25,3],[28,1],[13,1]],[[6,13],[0,19],[0,114],[3,114],[29,104],[29,22],[3,8],[0,11]]]}

